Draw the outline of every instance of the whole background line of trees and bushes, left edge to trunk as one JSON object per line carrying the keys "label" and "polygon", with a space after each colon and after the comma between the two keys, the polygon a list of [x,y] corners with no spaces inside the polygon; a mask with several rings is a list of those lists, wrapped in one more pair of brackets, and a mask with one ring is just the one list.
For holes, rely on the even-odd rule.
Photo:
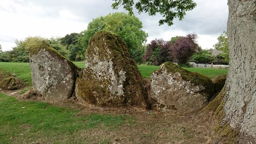
{"label": "whole background line of trees and bushes, left edge to trunk", "polygon": [[[87,29],[81,33],[67,34],[65,37],[43,38],[54,49],[71,61],[83,61],[89,39],[98,31],[110,31],[120,36],[127,47],[131,57],[137,62],[151,62],[154,65],[161,65],[165,61],[187,63],[189,60],[199,63],[228,63],[227,58],[227,36],[221,35],[215,49],[225,53],[212,57],[211,52],[202,50],[196,43],[197,35],[172,37],[170,41],[154,39],[146,45],[148,34],[142,30],[142,22],[134,15],[126,13],[113,13],[105,17],[93,19]],[[41,38],[41,37],[37,37]],[[27,39],[27,38],[26,38]],[[0,46],[0,61],[3,62],[29,62],[28,51],[26,50],[26,39],[15,40],[17,46],[11,51],[2,51]]]}

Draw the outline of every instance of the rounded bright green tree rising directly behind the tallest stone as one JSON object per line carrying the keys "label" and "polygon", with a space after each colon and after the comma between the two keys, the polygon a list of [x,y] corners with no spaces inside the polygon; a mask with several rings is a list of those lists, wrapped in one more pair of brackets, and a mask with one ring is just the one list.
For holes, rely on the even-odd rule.
{"label": "rounded bright green tree rising directly behind the tallest stone", "polygon": [[[82,38],[83,47],[87,47],[89,39],[98,31],[106,30],[120,36],[136,61],[141,61],[140,55],[143,54],[143,43],[148,37],[147,33],[142,30],[142,22],[134,15],[126,13],[110,13],[105,17],[93,19],[87,29],[84,31]],[[138,52],[141,53],[138,56]]]}

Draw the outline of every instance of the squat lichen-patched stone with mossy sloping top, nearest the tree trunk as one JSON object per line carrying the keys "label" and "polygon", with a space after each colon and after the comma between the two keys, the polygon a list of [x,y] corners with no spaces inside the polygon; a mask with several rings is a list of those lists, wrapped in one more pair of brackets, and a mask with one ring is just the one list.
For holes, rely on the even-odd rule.
{"label": "squat lichen-patched stone with mossy sloping top, nearest the tree trunk", "polygon": [[210,78],[165,62],[151,74],[154,107],[164,111],[197,111],[212,98]]}

